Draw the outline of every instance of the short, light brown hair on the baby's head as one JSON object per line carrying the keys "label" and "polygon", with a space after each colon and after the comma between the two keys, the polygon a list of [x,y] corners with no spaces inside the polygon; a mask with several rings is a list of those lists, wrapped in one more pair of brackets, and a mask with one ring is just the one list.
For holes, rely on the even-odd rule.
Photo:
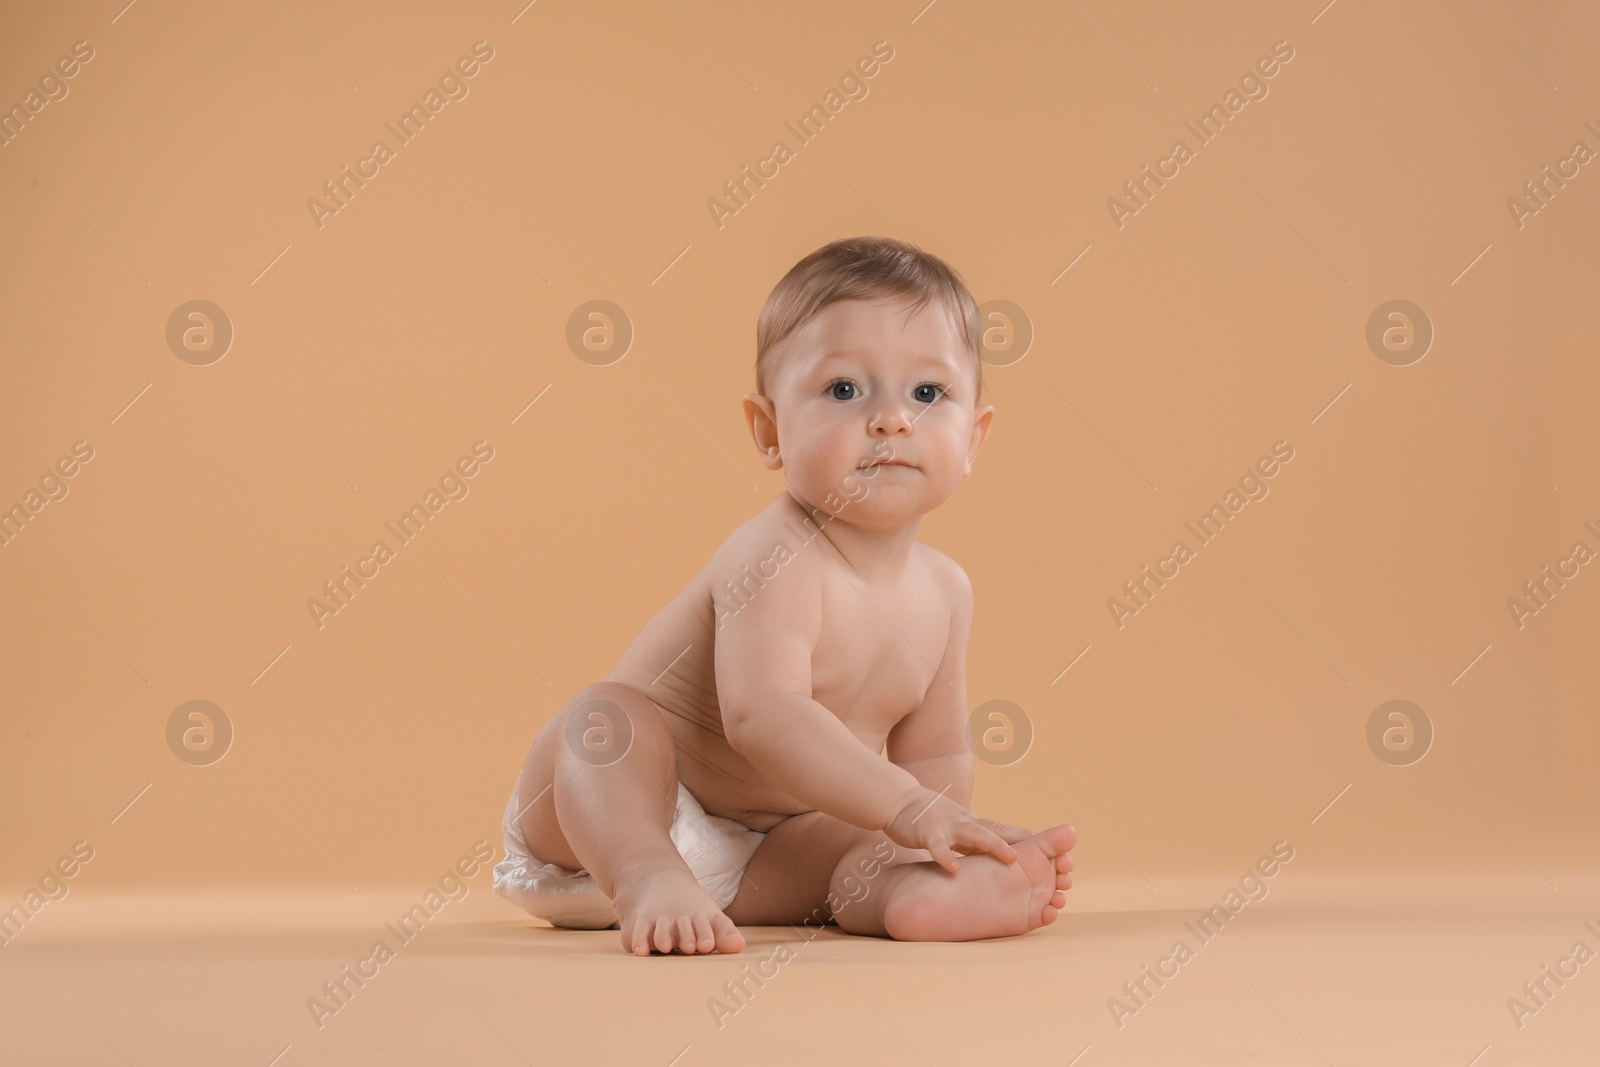
{"label": "short, light brown hair on the baby's head", "polygon": [[938,301],[973,354],[976,398],[984,389],[978,304],[962,275],[933,253],[893,237],[842,237],[789,269],[755,320],[755,389],[766,394],[773,349],[835,301],[901,296],[912,314]]}

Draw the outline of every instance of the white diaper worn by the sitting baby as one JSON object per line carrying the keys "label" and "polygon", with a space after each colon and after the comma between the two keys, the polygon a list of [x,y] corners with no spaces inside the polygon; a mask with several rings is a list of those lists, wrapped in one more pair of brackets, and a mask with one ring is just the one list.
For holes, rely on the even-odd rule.
{"label": "white diaper worn by the sitting baby", "polygon": [[[568,929],[608,929],[618,925],[611,897],[600,891],[587,870],[568,870],[536,857],[522,837],[517,816],[522,777],[510,790],[501,827],[506,830],[506,859],[494,865],[494,891],[534,918]],[[555,803],[544,797],[539,803]],[[678,782],[678,805],[667,829],[694,880],[717,907],[728,907],[739,894],[744,869],[766,835],[742,822],[707,814],[694,793]]]}

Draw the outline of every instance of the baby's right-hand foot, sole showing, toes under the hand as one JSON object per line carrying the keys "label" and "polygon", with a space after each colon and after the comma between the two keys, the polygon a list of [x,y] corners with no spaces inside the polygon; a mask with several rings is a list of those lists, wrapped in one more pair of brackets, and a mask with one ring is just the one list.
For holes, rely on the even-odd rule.
{"label": "baby's right-hand foot, sole showing, toes under the hand", "polygon": [[1067,853],[1077,840],[1062,824],[1013,841],[1013,864],[987,853],[963,856],[954,873],[934,862],[906,864],[888,888],[883,928],[896,941],[978,941],[1053,923],[1072,888]]}

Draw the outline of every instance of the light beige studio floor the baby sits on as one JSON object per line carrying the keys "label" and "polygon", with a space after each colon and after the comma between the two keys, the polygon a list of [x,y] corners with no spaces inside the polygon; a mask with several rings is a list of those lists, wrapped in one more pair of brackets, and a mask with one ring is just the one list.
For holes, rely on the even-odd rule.
{"label": "light beige studio floor the baby sits on", "polygon": [[[1224,878],[1080,885],[1005,941],[750,928],[741,955],[650,960],[482,885],[403,945],[384,926],[403,894],[75,894],[0,947],[0,1062],[1597,1064],[1600,961],[1544,977],[1542,1005],[1522,989],[1600,950],[1600,880],[1550,873],[1280,877],[1210,942],[1186,923]],[[307,1001],[378,939],[394,958],[318,1027]],[[1134,1005],[1123,982],[1176,941],[1192,958]],[[1112,997],[1138,1006],[1122,1025]],[[1512,997],[1538,1008],[1520,1027]]]}

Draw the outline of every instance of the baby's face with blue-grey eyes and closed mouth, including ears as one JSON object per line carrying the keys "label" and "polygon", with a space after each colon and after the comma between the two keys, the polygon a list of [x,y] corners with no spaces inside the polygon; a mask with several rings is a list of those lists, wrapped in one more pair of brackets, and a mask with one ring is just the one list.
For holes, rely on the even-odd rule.
{"label": "baby's face with blue-grey eyes and closed mouth, including ears", "polygon": [[976,403],[973,355],[934,301],[915,315],[901,299],[837,301],[779,355],[770,403],[757,402],[778,430],[763,459],[803,502],[885,528],[931,512],[971,474],[994,408]]}

